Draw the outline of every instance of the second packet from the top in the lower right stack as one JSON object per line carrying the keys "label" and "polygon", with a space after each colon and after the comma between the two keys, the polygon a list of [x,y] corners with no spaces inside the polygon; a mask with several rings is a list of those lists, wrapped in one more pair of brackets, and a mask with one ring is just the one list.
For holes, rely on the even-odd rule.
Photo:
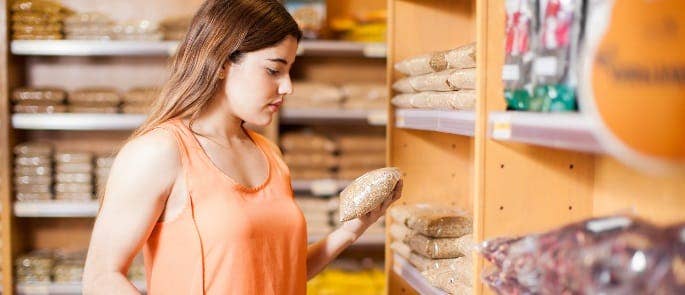
{"label": "second packet from the top in the lower right stack", "polygon": [[414,252],[433,259],[470,256],[475,246],[471,235],[460,238],[429,238],[415,234],[409,237],[407,244]]}

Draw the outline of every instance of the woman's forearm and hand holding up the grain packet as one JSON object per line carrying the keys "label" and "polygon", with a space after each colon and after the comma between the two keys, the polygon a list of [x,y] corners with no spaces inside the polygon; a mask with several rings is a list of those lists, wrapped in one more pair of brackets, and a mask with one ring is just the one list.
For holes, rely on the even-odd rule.
{"label": "woman's forearm and hand holding up the grain packet", "polygon": [[390,204],[402,196],[402,181],[395,186],[392,198],[366,215],[345,222],[341,227],[328,234],[324,239],[307,248],[307,279],[321,272],[347,247],[352,245],[366,229],[385,214]]}

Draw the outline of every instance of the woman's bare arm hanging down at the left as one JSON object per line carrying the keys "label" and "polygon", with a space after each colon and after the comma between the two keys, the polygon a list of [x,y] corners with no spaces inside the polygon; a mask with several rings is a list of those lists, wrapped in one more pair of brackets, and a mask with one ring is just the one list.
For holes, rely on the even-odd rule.
{"label": "woman's bare arm hanging down at the left", "polygon": [[88,247],[84,294],[139,294],[126,274],[164,211],[179,162],[176,140],[163,130],[119,151]]}

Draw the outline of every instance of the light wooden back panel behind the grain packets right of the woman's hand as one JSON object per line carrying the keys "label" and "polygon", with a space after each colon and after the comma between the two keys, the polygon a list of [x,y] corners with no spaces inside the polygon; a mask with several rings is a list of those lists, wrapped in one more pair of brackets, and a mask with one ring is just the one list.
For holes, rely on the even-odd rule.
{"label": "light wooden back panel behind the grain packets right of the woman's hand", "polygon": [[[393,70],[397,61],[475,41],[474,1],[389,0],[388,7],[390,83],[402,77]],[[392,109],[388,120],[388,161],[404,173],[404,194],[399,203],[440,202],[473,213],[473,138],[397,129],[392,124]],[[392,271],[390,253],[386,249],[389,294],[415,294]]]}

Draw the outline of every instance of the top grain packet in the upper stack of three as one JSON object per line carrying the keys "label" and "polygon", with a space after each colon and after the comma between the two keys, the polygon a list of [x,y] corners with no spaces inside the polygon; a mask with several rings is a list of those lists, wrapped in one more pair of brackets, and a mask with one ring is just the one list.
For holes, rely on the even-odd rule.
{"label": "top grain packet in the upper stack of three", "polygon": [[476,45],[467,44],[452,50],[422,54],[395,64],[395,69],[410,76],[440,72],[447,69],[476,67]]}

